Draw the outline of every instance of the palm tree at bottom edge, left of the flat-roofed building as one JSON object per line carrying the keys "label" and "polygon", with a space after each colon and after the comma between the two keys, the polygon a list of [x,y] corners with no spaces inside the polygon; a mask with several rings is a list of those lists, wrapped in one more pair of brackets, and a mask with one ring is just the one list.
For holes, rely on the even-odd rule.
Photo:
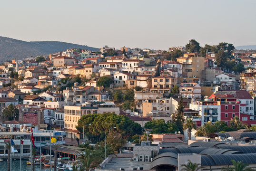
{"label": "palm tree at bottom edge, left of the flat-roofed building", "polygon": [[95,155],[93,150],[86,149],[79,153],[80,171],[90,171],[92,168],[98,167],[101,158]]}

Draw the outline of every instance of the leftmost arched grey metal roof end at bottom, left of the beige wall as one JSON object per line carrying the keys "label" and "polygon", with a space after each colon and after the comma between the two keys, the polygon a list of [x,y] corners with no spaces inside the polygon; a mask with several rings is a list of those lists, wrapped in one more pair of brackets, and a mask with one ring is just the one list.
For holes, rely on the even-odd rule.
{"label": "leftmost arched grey metal roof end at bottom, left of the beige wall", "polygon": [[153,169],[162,165],[169,165],[173,167],[178,166],[178,155],[173,152],[165,152],[156,156],[153,161],[151,161],[150,168]]}

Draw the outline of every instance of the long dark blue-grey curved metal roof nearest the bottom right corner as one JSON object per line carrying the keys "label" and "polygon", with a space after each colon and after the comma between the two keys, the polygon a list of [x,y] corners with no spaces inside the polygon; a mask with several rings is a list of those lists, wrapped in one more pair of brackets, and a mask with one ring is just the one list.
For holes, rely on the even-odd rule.
{"label": "long dark blue-grey curved metal roof nearest the bottom right corner", "polygon": [[201,165],[231,165],[231,160],[243,161],[244,164],[256,164],[256,154],[204,154],[201,157]]}

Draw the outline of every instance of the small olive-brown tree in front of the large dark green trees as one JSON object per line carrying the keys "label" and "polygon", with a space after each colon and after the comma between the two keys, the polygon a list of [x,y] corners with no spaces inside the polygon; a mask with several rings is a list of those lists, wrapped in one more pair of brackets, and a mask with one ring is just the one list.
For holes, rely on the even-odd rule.
{"label": "small olive-brown tree in front of the large dark green trees", "polygon": [[106,141],[108,144],[111,144],[114,151],[119,151],[126,143],[126,139],[124,139],[122,134],[117,131],[112,131],[111,134],[108,134]]}

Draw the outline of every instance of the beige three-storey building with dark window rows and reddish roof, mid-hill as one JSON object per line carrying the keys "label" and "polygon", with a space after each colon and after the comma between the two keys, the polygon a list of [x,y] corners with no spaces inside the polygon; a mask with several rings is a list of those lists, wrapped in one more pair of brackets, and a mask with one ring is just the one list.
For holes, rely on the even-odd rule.
{"label": "beige three-storey building with dark window rows and reddish roof, mid-hill", "polygon": [[170,93],[170,90],[177,84],[177,78],[173,76],[157,76],[152,78],[151,92]]}

